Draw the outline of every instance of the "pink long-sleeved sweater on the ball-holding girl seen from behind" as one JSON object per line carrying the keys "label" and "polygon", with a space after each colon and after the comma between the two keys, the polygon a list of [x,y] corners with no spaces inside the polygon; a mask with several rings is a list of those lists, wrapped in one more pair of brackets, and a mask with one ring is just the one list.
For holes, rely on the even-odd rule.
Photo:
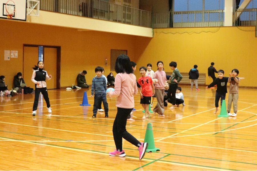
{"label": "pink long-sleeved sweater on the ball-holding girl seen from behind", "polygon": [[137,94],[136,76],[134,74],[119,73],[115,76],[114,91],[110,97],[117,97],[116,106],[126,109],[133,108],[134,95]]}

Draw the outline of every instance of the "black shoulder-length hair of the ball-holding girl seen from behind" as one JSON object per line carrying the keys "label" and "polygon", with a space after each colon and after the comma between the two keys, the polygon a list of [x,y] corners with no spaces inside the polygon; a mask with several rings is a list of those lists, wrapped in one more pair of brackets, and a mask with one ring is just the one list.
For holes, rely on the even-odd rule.
{"label": "black shoulder-length hair of the ball-holding girl seen from behind", "polygon": [[115,62],[115,72],[117,74],[119,73],[127,73],[131,74],[133,73],[132,66],[130,64],[130,59],[127,55],[122,54],[119,55],[116,62]]}

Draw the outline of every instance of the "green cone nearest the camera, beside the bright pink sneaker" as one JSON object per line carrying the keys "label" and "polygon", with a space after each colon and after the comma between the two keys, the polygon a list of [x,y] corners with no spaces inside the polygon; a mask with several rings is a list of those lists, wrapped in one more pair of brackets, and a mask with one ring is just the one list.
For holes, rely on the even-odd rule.
{"label": "green cone nearest the camera, beside the bright pink sneaker", "polygon": [[147,124],[145,137],[144,137],[144,143],[148,143],[148,147],[146,149],[146,152],[160,151],[160,148],[155,148],[155,145],[154,145],[154,138],[153,138],[152,124],[151,123]]}

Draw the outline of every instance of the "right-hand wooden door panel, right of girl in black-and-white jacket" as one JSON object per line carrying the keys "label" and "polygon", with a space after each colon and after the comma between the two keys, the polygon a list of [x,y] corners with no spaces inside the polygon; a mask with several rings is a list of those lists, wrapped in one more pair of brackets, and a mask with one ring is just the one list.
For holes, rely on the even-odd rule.
{"label": "right-hand wooden door panel, right of girl in black-and-white jacket", "polygon": [[57,88],[57,48],[44,47],[44,68],[48,75],[52,75],[52,79],[46,81],[47,89]]}

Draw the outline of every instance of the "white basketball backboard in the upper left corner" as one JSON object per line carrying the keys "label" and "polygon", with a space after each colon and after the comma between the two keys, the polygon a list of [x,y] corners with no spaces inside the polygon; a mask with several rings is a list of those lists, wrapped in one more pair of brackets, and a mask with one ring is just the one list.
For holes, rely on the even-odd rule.
{"label": "white basketball backboard in the upper left corner", "polygon": [[[7,19],[6,3],[8,0],[0,0],[0,18]],[[27,0],[11,0],[15,4],[12,20],[26,21]]]}

